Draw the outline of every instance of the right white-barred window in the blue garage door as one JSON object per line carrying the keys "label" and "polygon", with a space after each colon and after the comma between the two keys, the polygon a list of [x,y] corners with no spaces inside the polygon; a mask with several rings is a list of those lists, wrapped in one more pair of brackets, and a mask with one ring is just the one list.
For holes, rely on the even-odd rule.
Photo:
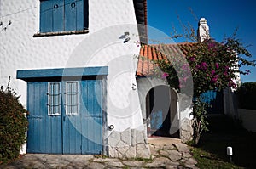
{"label": "right white-barred window in the blue garage door", "polygon": [[[73,93],[71,92],[70,94],[68,93],[68,87],[67,84],[68,83],[76,83],[76,91]],[[79,81],[66,81],[65,82],[65,115],[79,115],[79,97],[80,97],[80,93],[79,93]],[[73,99],[72,99],[72,95],[75,95],[76,99],[76,103],[73,103]],[[69,98],[68,98],[69,97]],[[69,100],[71,100],[71,103],[68,103]],[[69,107],[68,107],[69,106]],[[76,108],[74,108],[76,111],[73,112],[73,108],[72,106],[76,106]],[[71,112],[69,112],[69,110],[71,110]]]}

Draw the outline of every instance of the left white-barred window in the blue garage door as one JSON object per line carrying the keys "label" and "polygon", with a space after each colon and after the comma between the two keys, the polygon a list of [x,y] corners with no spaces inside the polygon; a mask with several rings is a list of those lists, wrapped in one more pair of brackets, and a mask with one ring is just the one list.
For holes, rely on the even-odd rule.
{"label": "left white-barred window in the blue garage door", "polygon": [[[59,88],[58,88],[58,104],[55,104],[54,101],[55,99],[53,98],[55,96],[55,91],[52,84],[58,84]],[[51,95],[53,94],[53,95]],[[48,82],[48,115],[61,115],[61,82]],[[52,98],[51,98],[52,96]],[[54,112],[54,106],[58,106],[58,111],[55,113]]]}

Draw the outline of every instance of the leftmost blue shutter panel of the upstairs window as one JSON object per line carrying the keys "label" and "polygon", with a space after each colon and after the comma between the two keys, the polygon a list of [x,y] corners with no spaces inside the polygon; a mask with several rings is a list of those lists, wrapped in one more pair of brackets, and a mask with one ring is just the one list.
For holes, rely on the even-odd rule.
{"label": "leftmost blue shutter panel of the upstairs window", "polygon": [[49,32],[53,29],[53,2],[41,1],[40,4],[40,32]]}

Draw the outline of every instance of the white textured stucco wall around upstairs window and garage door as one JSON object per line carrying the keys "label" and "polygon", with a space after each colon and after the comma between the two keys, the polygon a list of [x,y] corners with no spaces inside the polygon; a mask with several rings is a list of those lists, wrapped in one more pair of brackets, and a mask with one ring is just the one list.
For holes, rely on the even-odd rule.
{"label": "white textured stucco wall around upstairs window and garage door", "polygon": [[[55,37],[32,37],[39,30],[39,0],[1,0],[0,84],[21,95],[26,106],[26,82],[16,80],[16,70],[87,67],[108,65],[108,125],[114,130],[142,128],[143,120],[135,71],[139,54],[136,16],[132,0],[90,0],[89,33]],[[122,35],[130,32],[124,43]]]}

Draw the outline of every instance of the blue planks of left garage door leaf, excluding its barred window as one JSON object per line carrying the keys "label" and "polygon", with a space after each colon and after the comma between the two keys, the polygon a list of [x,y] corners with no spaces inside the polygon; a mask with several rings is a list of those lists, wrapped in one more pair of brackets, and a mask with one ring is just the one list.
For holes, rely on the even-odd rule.
{"label": "blue planks of left garage door leaf, excluding its barred window", "polygon": [[27,83],[27,153],[61,154],[61,116],[48,115],[48,82]]}

